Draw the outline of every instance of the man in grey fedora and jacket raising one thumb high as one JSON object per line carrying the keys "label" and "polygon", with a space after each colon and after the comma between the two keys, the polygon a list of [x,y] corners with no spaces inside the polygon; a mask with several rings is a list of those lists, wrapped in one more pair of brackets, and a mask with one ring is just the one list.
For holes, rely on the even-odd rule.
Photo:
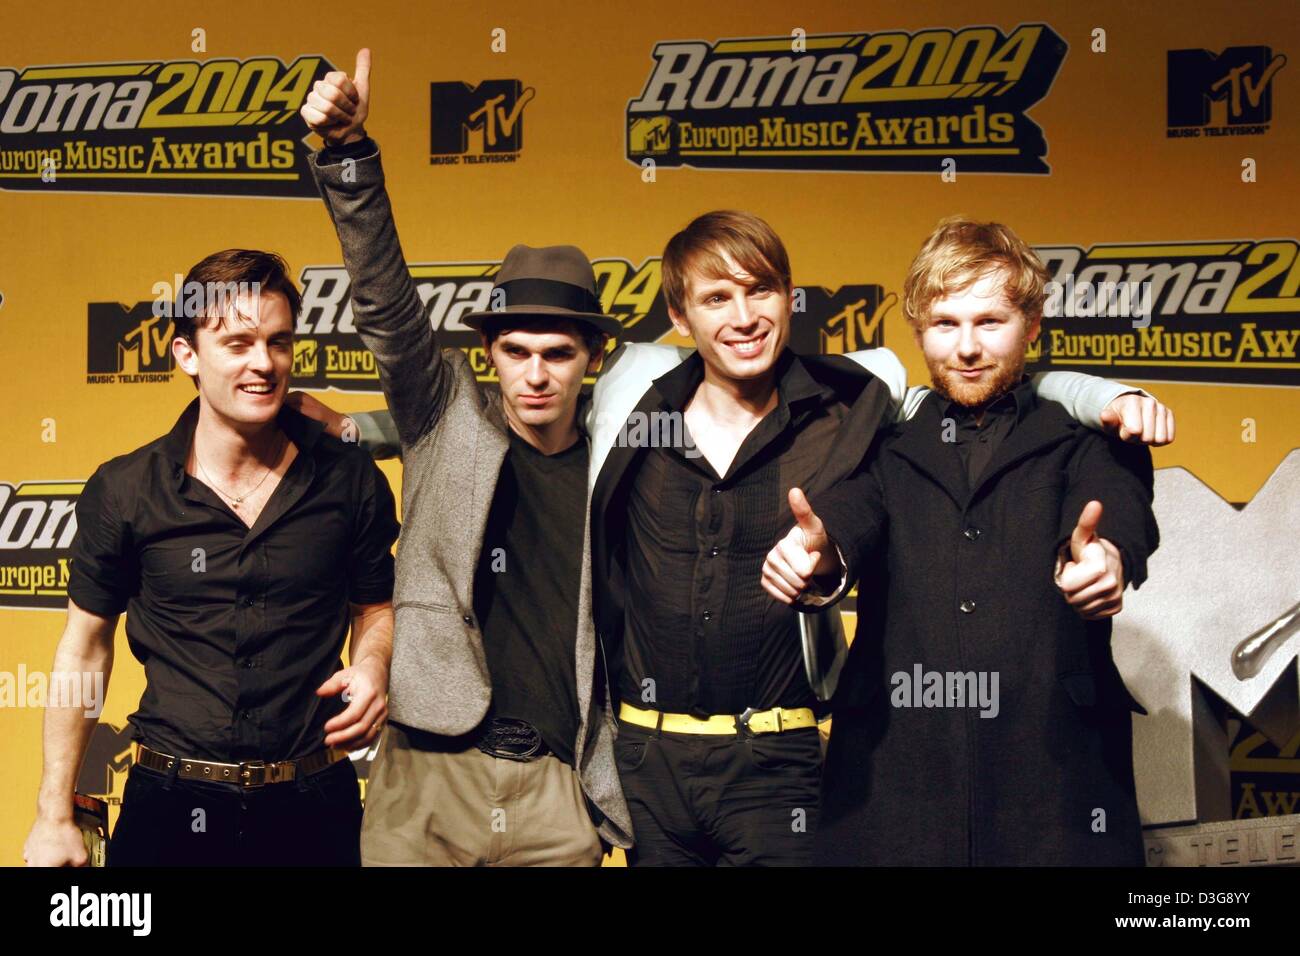
{"label": "man in grey fedora and jacket raising one thumb high", "polygon": [[[322,96],[324,92],[324,96]],[[326,98],[355,113],[341,121]],[[369,53],[317,83],[313,173],[403,458],[389,726],[370,770],[367,865],[598,865],[630,845],[590,610],[582,378],[619,323],[575,246],[515,246],[465,316],[500,380],[443,350],[365,135]],[[304,399],[299,399],[304,401]],[[602,675],[602,676],[598,676]]]}

